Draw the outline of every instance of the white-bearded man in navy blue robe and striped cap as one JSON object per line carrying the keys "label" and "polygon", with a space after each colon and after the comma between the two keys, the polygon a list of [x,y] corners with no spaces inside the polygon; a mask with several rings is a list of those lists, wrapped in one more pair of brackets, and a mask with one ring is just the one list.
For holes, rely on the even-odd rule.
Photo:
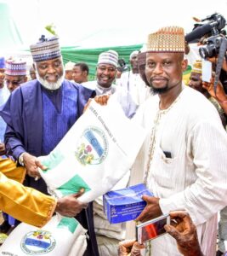
{"label": "white-bearded man in navy blue robe and striped cap", "polygon": [[[42,36],[31,45],[31,55],[37,71],[37,79],[20,86],[0,110],[7,123],[5,144],[21,166],[26,167],[26,185],[48,194],[47,185],[40,177],[43,169],[37,156],[49,154],[70,130],[83,112],[84,105],[93,90],[65,79],[60,53],[59,38]],[[64,175],[64,174],[63,174]],[[89,205],[77,199],[77,219],[88,229],[88,255],[98,255],[93,235],[93,213]]]}

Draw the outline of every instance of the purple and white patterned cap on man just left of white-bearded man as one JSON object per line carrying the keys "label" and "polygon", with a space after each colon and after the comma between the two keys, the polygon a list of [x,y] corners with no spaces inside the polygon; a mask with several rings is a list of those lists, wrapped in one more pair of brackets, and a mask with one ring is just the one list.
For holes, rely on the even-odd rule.
{"label": "purple and white patterned cap on man just left of white-bearded man", "polygon": [[26,76],[26,61],[9,59],[5,62],[5,74],[9,76]]}

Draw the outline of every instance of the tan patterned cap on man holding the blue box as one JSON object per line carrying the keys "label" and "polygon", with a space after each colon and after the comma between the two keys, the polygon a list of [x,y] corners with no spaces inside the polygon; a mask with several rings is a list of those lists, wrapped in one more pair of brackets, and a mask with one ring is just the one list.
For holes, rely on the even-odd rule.
{"label": "tan patterned cap on man holding the blue box", "polygon": [[147,41],[148,52],[184,52],[184,29],[166,26],[151,33]]}

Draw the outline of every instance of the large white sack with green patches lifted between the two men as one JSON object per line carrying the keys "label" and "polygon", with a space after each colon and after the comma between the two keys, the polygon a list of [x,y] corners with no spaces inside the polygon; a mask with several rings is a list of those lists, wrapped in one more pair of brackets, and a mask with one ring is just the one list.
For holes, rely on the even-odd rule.
{"label": "large white sack with green patches lifted between the two men", "polygon": [[48,168],[40,172],[49,193],[61,197],[84,188],[79,200],[94,201],[128,172],[144,138],[117,102],[100,106],[93,101],[57,147],[39,157]]}

